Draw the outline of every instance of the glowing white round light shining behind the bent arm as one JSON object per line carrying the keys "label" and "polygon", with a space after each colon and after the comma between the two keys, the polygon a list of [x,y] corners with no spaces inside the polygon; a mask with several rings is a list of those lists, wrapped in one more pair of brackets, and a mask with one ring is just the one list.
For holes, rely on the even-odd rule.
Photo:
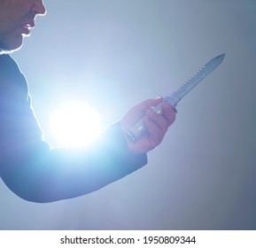
{"label": "glowing white round light shining behind the bent arm", "polygon": [[52,113],[50,128],[60,145],[81,147],[99,136],[102,131],[102,120],[92,106],[72,101],[60,105]]}

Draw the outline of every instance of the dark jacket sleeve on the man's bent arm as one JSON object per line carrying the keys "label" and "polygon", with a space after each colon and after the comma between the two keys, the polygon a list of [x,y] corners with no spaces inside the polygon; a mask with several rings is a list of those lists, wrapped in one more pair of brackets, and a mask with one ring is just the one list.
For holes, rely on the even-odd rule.
{"label": "dark jacket sleeve on the man's bent arm", "polygon": [[17,65],[8,63],[3,72],[0,59],[0,175],[20,198],[52,202],[79,197],[147,163],[146,154],[128,151],[120,123],[86,150],[50,149],[30,106],[27,82]]}

